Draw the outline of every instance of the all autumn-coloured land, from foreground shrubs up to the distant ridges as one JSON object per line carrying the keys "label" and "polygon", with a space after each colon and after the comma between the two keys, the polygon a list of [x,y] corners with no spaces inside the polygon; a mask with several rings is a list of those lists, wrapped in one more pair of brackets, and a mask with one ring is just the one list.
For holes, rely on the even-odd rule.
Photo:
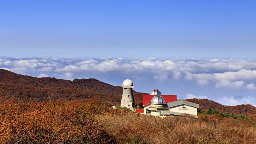
{"label": "all autumn-coloured land, from foreground shrubs up to the distant ridges", "polygon": [[[137,104],[142,94],[134,91]],[[120,104],[122,87],[96,79],[34,78],[0,70],[0,143],[252,144],[256,109],[206,99],[198,119],[136,114]],[[235,114],[236,113],[236,114]],[[235,118],[235,119],[234,119]]]}

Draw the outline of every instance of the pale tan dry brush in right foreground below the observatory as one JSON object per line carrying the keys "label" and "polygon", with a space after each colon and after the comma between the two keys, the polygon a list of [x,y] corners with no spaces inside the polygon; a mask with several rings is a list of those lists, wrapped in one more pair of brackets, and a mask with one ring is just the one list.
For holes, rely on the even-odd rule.
{"label": "pale tan dry brush in right foreground below the observatory", "polygon": [[134,138],[147,144],[256,143],[256,128],[242,124],[227,126],[216,120],[158,118],[143,114],[98,115],[97,118],[119,143],[132,143]]}

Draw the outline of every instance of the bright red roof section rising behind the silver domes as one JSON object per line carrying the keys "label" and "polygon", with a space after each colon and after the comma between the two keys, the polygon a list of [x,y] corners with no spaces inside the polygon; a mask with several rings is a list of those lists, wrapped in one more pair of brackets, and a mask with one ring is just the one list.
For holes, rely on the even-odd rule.
{"label": "bright red roof section rising behind the silver domes", "polygon": [[[142,100],[143,107],[149,105],[154,96],[155,95],[144,94],[143,100]],[[161,96],[164,98],[164,101],[166,104],[168,102],[174,102],[177,100],[177,95],[161,95]]]}

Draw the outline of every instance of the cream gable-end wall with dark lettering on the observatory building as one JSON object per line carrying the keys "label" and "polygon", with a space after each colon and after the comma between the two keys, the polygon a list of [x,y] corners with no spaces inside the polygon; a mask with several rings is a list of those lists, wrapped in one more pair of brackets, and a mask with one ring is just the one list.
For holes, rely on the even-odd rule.
{"label": "cream gable-end wall with dark lettering on the observatory building", "polygon": [[[184,108],[185,107],[185,108]],[[169,108],[170,112],[180,112],[184,114],[194,114],[197,116],[197,108],[188,105],[180,105]]]}

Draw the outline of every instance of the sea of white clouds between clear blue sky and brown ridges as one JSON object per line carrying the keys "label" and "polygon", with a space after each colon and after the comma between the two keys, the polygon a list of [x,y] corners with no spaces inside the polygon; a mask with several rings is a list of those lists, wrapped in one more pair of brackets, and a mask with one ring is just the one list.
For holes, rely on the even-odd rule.
{"label": "sea of white clouds between clear blue sky and brown ridges", "polygon": [[[256,105],[255,59],[1,57],[0,68],[36,77],[97,78],[112,81],[113,85],[120,85],[126,78],[138,84],[152,82],[163,87],[174,82],[187,88],[191,84],[195,90],[183,88],[186,94],[182,98],[208,98],[226,105]],[[145,92],[143,88],[137,91]],[[211,91],[222,96],[212,97]]]}

